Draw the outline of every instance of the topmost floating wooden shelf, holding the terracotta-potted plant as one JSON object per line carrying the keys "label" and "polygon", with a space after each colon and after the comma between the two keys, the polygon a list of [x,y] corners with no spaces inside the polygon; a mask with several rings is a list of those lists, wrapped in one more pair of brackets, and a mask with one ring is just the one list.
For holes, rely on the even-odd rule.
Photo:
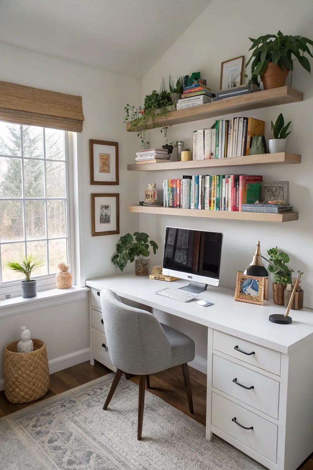
{"label": "topmost floating wooden shelf, holding the terracotta-potted plant", "polygon": [[[256,110],[298,101],[303,101],[303,93],[290,88],[290,86],[280,86],[279,88],[273,88],[271,90],[262,90],[242,96],[225,98],[224,100],[202,104],[193,108],[171,111],[166,118],[163,116],[155,118],[155,124],[159,126],[182,124],[184,122],[198,121],[199,119],[214,118],[225,114],[241,113],[242,111]],[[130,130],[130,125],[131,121],[126,123],[127,131]],[[147,128],[153,128],[151,122],[148,124]],[[134,130],[133,132],[137,131]]]}

